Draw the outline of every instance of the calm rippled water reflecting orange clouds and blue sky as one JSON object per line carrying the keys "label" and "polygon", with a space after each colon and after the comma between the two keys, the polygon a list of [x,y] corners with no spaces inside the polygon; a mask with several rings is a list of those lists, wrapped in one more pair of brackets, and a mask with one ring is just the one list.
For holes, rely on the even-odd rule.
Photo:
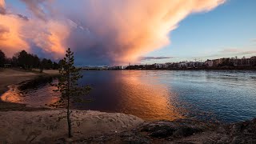
{"label": "calm rippled water reflecting orange clouds and blue sky", "polygon": [[[80,84],[93,87],[94,102],[82,110],[134,114],[146,120],[196,118],[238,122],[256,117],[256,71],[117,70],[82,72]],[[43,86],[19,94],[15,86],[2,95],[11,102],[43,106],[58,94]]]}

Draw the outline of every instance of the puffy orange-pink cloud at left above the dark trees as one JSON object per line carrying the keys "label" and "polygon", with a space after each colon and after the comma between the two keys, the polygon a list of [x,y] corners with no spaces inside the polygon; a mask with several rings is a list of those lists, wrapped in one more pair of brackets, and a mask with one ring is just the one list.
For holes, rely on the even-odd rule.
{"label": "puffy orange-pink cloud at left above the dark trees", "polygon": [[[4,6],[5,2],[0,0],[0,8],[5,9]],[[60,58],[66,51],[63,43],[69,30],[65,20],[50,19],[46,22],[11,11],[0,13],[0,48],[11,57],[19,50],[31,51],[32,46],[37,46],[52,58]]]}

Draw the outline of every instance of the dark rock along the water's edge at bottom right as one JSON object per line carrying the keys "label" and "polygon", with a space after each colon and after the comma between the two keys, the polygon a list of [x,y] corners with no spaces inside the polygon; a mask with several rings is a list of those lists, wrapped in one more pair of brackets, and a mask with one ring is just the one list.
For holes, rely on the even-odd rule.
{"label": "dark rock along the water's edge at bottom right", "polygon": [[134,130],[58,143],[256,143],[256,118],[229,125],[191,120],[145,122]]}

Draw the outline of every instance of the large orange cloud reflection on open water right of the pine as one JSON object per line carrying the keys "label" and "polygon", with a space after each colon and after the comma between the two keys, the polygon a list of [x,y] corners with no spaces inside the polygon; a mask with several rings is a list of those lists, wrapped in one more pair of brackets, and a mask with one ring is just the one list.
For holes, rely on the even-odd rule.
{"label": "large orange cloud reflection on open water right of the pine", "polygon": [[[141,74],[144,73],[144,74]],[[121,111],[134,114],[146,120],[182,118],[178,108],[171,101],[174,94],[170,87],[156,82],[152,73],[146,71],[124,71],[118,89],[121,89]],[[171,95],[170,95],[171,94]]]}

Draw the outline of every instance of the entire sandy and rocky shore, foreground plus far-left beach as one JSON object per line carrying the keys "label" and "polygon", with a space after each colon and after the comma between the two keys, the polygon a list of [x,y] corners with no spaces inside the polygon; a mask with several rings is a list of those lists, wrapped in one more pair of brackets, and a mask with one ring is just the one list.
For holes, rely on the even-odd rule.
{"label": "entire sandy and rocky shore, foreground plus far-left beach", "polygon": [[[10,84],[34,85],[28,80],[39,75],[0,70],[0,94]],[[189,119],[145,122],[129,114],[74,110],[74,138],[67,138],[66,120],[57,122],[62,113],[0,101],[0,143],[256,143],[256,118],[233,124]]]}

